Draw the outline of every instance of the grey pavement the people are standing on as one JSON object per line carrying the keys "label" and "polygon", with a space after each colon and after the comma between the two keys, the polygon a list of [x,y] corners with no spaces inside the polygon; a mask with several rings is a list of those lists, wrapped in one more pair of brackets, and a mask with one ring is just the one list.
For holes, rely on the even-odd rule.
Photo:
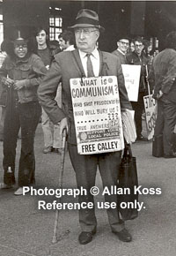
{"label": "grey pavement the people are standing on", "polygon": [[[20,152],[17,147],[17,169]],[[34,188],[57,188],[61,156],[43,154],[43,134],[40,124],[35,136],[36,184]],[[54,196],[14,196],[14,189],[0,191],[0,256],[175,256],[176,253],[176,159],[155,158],[151,142],[136,142],[132,146],[136,156],[139,184],[143,194],[139,201],[143,209],[138,218],[126,222],[131,243],[123,243],[111,232],[106,209],[96,209],[97,234],[88,245],[79,245],[80,232],[77,210],[59,211],[57,237],[52,244],[55,223],[54,210],[39,210],[39,200],[52,202]],[[0,181],[3,181],[3,143],[0,142]],[[17,174],[16,174],[17,175]],[[99,172],[96,185],[101,189]],[[65,159],[63,187],[76,188],[74,171],[68,153]],[[150,188],[160,188],[161,194],[149,194]],[[102,201],[99,193],[95,201]],[[72,197],[62,201],[77,202]]]}

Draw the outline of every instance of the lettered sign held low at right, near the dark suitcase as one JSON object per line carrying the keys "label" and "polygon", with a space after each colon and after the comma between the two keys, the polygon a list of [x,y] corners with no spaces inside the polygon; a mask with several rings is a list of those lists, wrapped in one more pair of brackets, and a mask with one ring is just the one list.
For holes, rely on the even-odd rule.
{"label": "lettered sign held low at right, near the dark suitcase", "polygon": [[157,102],[152,94],[143,97],[148,139],[152,139],[157,120]]}

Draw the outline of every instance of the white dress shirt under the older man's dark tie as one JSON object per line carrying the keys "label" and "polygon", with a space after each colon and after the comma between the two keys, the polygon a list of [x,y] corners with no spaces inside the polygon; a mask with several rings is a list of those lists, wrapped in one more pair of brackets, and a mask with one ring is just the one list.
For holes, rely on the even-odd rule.
{"label": "white dress shirt under the older man's dark tie", "polygon": [[[78,52],[81,58],[81,62],[83,64],[85,76],[87,77],[87,53],[81,51],[80,49],[78,49]],[[92,61],[94,75],[95,77],[99,77],[99,50],[97,48],[94,49],[90,57]]]}

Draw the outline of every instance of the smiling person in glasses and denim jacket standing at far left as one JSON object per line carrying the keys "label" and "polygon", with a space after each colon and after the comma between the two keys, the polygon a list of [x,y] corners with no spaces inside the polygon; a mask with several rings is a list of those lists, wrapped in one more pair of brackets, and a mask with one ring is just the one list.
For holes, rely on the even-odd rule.
{"label": "smiling person in glasses and denim jacket standing at far left", "polygon": [[[26,31],[25,31],[26,32]],[[0,69],[0,79],[7,91],[7,109],[4,119],[4,184],[15,183],[15,158],[18,131],[21,127],[21,154],[18,165],[18,190],[35,182],[34,134],[40,119],[37,88],[47,70],[40,57],[33,54],[30,38],[20,30],[14,31],[14,40],[6,49],[7,57]]]}

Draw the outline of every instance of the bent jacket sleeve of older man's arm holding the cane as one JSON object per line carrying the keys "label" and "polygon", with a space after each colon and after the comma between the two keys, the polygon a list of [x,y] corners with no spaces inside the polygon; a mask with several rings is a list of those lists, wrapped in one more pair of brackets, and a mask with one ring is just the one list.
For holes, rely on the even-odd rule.
{"label": "bent jacket sleeve of older man's arm holding the cane", "polygon": [[57,124],[62,120],[62,118],[66,117],[62,109],[59,108],[57,102],[55,101],[57,87],[61,81],[61,65],[59,64],[58,60],[54,60],[47,75],[42,80],[40,87],[38,88],[40,104],[54,124]]}

